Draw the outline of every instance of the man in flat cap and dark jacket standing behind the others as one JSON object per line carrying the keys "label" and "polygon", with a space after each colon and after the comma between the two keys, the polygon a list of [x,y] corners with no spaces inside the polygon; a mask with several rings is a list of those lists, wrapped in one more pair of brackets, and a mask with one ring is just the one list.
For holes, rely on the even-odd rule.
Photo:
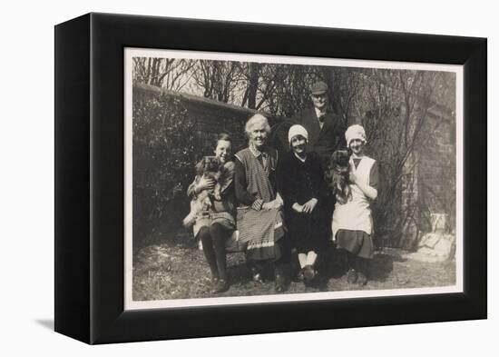
{"label": "man in flat cap and dark jacket standing behind the others", "polygon": [[347,147],[345,124],[332,113],[328,105],[328,84],[317,82],[310,88],[313,106],[296,114],[292,121],[307,129],[310,151],[315,151],[324,170],[328,169],[331,154],[339,148]]}

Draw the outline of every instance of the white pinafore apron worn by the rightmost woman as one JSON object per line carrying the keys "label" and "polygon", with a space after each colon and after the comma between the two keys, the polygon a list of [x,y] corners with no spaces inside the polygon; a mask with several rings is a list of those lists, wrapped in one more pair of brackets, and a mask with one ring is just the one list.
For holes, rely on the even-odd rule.
{"label": "white pinafore apron worn by the rightmost woman", "polygon": [[[357,175],[357,180],[365,184],[369,184],[369,174],[374,163],[374,159],[363,156],[356,168],[353,160],[350,159],[350,165]],[[338,202],[335,204],[332,221],[333,241],[336,240],[336,233],[340,229],[364,231],[369,235],[372,233],[373,219],[368,198],[357,184],[350,184],[350,189],[352,190],[352,199],[345,204]]]}

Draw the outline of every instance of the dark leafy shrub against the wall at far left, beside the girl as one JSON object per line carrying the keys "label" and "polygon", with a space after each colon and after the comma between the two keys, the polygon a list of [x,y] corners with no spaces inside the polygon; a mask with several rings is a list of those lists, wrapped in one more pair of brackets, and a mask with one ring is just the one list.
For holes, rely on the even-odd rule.
{"label": "dark leafy shrub against the wall at far left, beside the girl", "polygon": [[179,98],[133,97],[133,245],[167,233],[189,211],[186,190],[197,161],[195,123]]}

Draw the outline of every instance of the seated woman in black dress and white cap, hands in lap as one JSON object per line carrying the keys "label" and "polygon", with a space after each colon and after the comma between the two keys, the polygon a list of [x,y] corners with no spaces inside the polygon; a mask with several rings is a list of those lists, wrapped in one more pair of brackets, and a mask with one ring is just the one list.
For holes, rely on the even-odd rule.
{"label": "seated woman in black dress and white cap, hands in lap", "polygon": [[318,253],[328,243],[328,185],[319,155],[308,153],[307,130],[301,125],[291,126],[288,140],[291,154],[279,163],[279,192],[291,245],[298,253],[298,280],[309,285],[317,277]]}

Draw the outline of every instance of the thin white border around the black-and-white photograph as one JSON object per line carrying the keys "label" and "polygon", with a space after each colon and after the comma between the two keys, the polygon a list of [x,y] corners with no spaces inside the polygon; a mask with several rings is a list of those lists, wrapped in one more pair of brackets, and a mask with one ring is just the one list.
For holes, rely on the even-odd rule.
{"label": "thin white border around the black-and-white photograph", "polygon": [[[271,64],[307,64],[359,68],[407,69],[453,72],[455,81],[455,285],[445,287],[406,288],[390,290],[338,291],[324,293],[284,293],[275,295],[211,297],[158,301],[132,300],[132,57],[191,58]],[[419,64],[407,62],[347,60],[284,55],[222,54],[216,52],[175,51],[142,48],[124,49],[124,309],[179,308],[207,305],[299,302],[356,299],[384,296],[463,293],[463,66],[458,64]]]}

